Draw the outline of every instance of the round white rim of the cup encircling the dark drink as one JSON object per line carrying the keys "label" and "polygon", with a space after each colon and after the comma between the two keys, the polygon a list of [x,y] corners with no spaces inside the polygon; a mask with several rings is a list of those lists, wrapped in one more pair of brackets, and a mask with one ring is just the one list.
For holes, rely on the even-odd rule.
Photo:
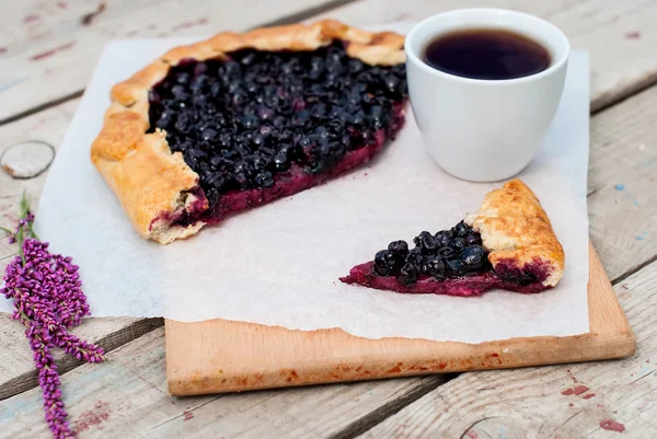
{"label": "round white rim of the cup encircling the dark drink", "polygon": [[[491,79],[475,79],[475,78],[459,77],[456,74],[451,74],[451,73],[435,69],[435,68],[430,67],[429,65],[427,65],[425,61],[423,61],[418,57],[418,55],[415,54],[415,51],[411,48],[411,44],[415,37],[417,30],[420,28],[426,23],[428,23],[429,21],[436,20],[437,18],[441,18],[441,16],[459,14],[459,13],[468,13],[468,12],[472,12],[472,13],[485,12],[485,13],[493,13],[493,14],[503,13],[506,15],[518,16],[521,20],[542,22],[544,25],[546,25],[549,28],[551,28],[555,35],[557,35],[557,38],[562,39],[561,43],[564,45],[564,53],[556,60],[556,62],[553,62],[545,70],[540,71],[538,73],[530,74],[527,77],[514,78],[514,79],[491,80]],[[463,27],[465,28],[465,27],[468,27],[468,25],[465,24]],[[404,51],[406,54],[407,60],[414,62],[418,68],[423,69],[427,73],[435,74],[435,76],[438,76],[438,77],[441,77],[441,78],[445,78],[448,80],[452,80],[456,82],[461,82],[464,84],[499,86],[499,85],[516,85],[516,84],[520,84],[520,83],[525,83],[525,82],[537,81],[537,80],[545,78],[545,77],[554,73],[555,71],[560,70],[568,61],[568,57],[570,55],[570,43],[568,42],[568,38],[566,37],[566,35],[563,33],[562,30],[560,30],[557,26],[550,23],[549,21],[538,18],[535,15],[531,15],[531,14],[528,14],[525,12],[519,12],[519,11],[512,11],[509,9],[502,9],[502,8],[462,8],[462,9],[454,9],[451,11],[440,12],[438,14],[427,16],[426,19],[424,19],[423,21],[417,23],[411,30],[411,32],[408,32],[408,34],[406,35],[406,38],[404,41]]]}

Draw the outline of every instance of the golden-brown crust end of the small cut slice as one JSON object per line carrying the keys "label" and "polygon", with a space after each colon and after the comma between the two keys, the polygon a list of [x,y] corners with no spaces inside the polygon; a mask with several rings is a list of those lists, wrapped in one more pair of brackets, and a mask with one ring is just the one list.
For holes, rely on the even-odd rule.
{"label": "golden-brown crust end of the small cut slice", "polygon": [[510,263],[520,270],[540,266],[546,272],[545,287],[554,287],[562,278],[564,249],[541,203],[520,180],[488,193],[479,211],[465,217],[465,223],[482,235],[496,272],[500,264]]}

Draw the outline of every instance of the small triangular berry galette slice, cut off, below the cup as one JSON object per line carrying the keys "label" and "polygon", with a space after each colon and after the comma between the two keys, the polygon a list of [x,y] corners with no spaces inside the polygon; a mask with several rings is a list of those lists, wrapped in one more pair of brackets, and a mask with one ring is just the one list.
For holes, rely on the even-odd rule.
{"label": "small triangular berry galette slice, cut off, below the cup", "polygon": [[520,180],[487,194],[450,230],[394,241],[341,278],[381,290],[480,296],[491,289],[539,292],[563,275],[564,250],[537,196]]}

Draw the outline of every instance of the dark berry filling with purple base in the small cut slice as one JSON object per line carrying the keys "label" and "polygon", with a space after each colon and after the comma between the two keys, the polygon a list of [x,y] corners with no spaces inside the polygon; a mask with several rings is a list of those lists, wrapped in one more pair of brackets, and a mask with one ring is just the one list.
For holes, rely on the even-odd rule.
{"label": "dark berry filling with purple base in the small cut slice", "polygon": [[393,241],[374,261],[351,268],[345,284],[406,293],[481,296],[499,288],[532,293],[545,290],[542,282],[550,267],[539,259],[519,267],[515,261],[498,261],[495,269],[481,235],[463,221],[436,234],[422,232],[408,249],[406,241]]}

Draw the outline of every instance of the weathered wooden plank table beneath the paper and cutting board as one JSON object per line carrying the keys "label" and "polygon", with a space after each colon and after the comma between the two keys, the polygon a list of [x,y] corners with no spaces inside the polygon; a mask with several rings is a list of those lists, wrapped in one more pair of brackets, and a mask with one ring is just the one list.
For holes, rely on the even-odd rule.
{"label": "weathered wooden plank table beneath the paper and cutting board", "polygon": [[[177,398],[166,391],[162,320],[89,319],[76,333],[101,344],[108,361],[58,357],[79,437],[657,437],[657,2],[199,3],[3,1],[0,152],[26,140],[59,146],[102,47],[113,38],[207,35],[320,16],[356,25],[416,21],[471,5],[526,11],[558,25],[574,47],[590,53],[590,235],[638,348],[618,361]],[[0,171],[0,223],[15,220],[23,189],[37,200],[44,182],[45,174],[14,180]],[[0,242],[0,270],[15,252]],[[49,437],[23,328],[0,314],[0,436]],[[577,392],[565,392],[575,385]]]}

